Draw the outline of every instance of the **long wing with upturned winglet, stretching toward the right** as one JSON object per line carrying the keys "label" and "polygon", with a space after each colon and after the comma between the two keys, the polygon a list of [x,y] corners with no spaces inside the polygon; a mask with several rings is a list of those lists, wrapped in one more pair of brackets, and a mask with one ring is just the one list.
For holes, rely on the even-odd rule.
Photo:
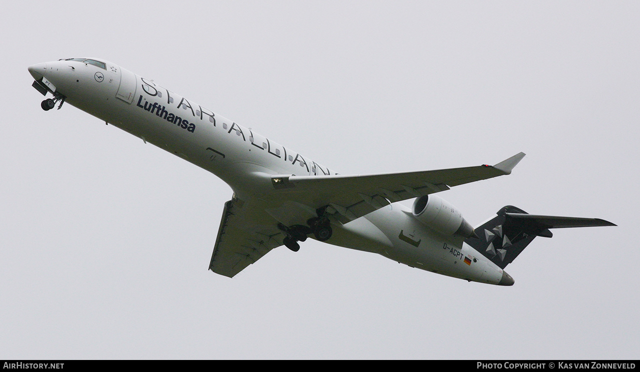
{"label": "long wing with upturned winglet, stretching toward the right", "polygon": [[422,172],[374,174],[296,176],[274,175],[273,187],[281,198],[319,208],[328,206],[327,213],[346,223],[390,202],[420,197],[449,190],[469,182],[511,174],[525,154],[520,152],[496,165],[469,166]]}

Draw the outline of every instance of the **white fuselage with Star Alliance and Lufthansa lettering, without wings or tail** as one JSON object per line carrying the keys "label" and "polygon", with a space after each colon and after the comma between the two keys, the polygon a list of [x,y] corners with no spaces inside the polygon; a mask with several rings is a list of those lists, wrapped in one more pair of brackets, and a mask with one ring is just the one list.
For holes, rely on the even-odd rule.
{"label": "white fuselage with Star Alliance and Lufthansa lettering, without wings or tail", "polygon": [[[241,200],[268,198],[273,192],[271,175],[335,174],[153,81],[105,63],[102,69],[60,60],[33,65],[29,71],[36,80],[44,77],[68,104],[217,175]],[[489,284],[503,279],[503,271],[462,238],[429,229],[402,204],[332,226],[328,243],[333,245],[460,279]]]}

